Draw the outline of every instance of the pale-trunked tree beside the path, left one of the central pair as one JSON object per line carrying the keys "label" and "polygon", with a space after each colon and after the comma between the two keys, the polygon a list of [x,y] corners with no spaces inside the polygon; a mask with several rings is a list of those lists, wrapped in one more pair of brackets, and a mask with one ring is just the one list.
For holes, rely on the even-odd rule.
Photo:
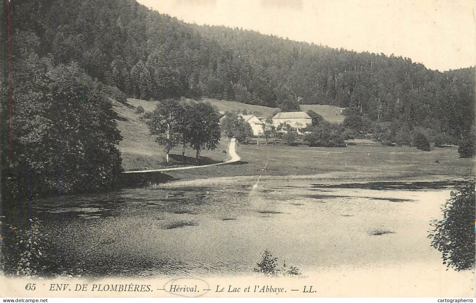
{"label": "pale-trunked tree beside the path, left one of the central pair", "polygon": [[184,108],[178,101],[165,99],[157,104],[151,112],[148,120],[149,131],[152,135],[157,135],[156,141],[164,146],[167,163],[169,163],[169,152],[177,146],[181,139],[182,121],[181,116]]}

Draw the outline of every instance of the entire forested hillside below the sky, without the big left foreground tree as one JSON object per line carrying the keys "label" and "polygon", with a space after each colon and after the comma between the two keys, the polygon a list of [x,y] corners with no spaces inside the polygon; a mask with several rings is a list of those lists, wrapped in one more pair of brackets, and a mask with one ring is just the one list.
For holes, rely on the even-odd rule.
{"label": "entire forested hillside below the sky, without the big left foreground tree", "polygon": [[474,120],[473,68],[442,73],[393,55],[190,25],[133,0],[12,6],[22,37],[17,49],[35,34],[40,56],[77,61],[128,96],[203,95],[285,110],[298,110],[298,104],[355,107],[374,121],[405,121],[455,136]]}

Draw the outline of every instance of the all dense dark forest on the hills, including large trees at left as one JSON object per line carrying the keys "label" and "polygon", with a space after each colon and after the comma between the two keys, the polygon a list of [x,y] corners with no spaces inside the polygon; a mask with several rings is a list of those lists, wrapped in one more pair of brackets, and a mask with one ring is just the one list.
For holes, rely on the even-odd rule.
{"label": "all dense dark forest on the hills, including large trees at left", "polygon": [[[120,136],[106,97],[206,96],[285,111],[337,105],[381,141],[414,128],[455,141],[475,121],[474,68],[432,71],[393,55],[186,24],[134,0],[11,0],[1,1],[1,11],[3,154],[10,150],[2,165],[23,175],[49,172],[49,189],[78,167],[72,155],[86,161],[93,146],[107,167],[90,162],[66,190],[88,189],[88,178],[109,186],[114,178],[104,174],[120,171],[113,147]],[[67,142],[51,150],[51,138],[63,132]],[[69,132],[79,133],[76,141],[68,141]],[[90,146],[89,137],[96,140]],[[45,165],[40,158],[48,154],[56,158]]]}

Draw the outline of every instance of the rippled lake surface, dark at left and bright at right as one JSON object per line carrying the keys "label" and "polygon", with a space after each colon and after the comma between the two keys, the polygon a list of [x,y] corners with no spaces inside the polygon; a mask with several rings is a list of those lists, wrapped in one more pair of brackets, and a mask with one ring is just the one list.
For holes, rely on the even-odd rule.
{"label": "rippled lake surface, dark at left and bright at right", "polygon": [[[25,202],[5,213],[2,224],[30,237],[30,212],[39,218],[46,272],[247,275],[265,249],[304,272],[365,267],[439,260],[426,239],[427,223],[440,215],[452,185],[283,181],[260,183],[251,195],[249,184],[125,189]],[[2,254],[19,255],[21,232],[2,230]]]}

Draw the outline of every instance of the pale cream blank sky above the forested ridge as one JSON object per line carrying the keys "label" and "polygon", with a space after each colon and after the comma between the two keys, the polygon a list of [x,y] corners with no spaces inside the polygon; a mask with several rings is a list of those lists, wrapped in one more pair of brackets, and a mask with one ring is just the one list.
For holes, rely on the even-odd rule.
{"label": "pale cream blank sky above the forested ridge", "polygon": [[139,0],[189,23],[258,30],[332,48],[408,57],[445,71],[476,64],[474,0]]}

